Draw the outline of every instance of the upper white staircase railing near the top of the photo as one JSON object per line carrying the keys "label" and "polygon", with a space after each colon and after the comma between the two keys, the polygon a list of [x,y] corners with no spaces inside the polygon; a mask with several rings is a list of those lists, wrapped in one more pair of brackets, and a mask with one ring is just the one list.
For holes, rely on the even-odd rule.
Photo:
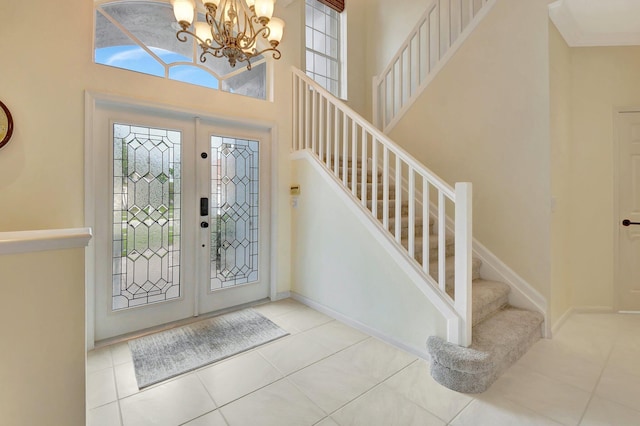
{"label": "upper white staircase railing near the top of the photo", "polygon": [[496,0],[433,0],[373,79],[373,122],[388,133]]}

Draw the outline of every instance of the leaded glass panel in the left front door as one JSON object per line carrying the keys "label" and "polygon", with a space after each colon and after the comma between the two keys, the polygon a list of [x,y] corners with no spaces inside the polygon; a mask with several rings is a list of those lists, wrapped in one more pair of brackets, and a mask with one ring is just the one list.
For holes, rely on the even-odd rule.
{"label": "leaded glass panel in the left front door", "polygon": [[180,297],[180,138],[113,126],[113,310]]}

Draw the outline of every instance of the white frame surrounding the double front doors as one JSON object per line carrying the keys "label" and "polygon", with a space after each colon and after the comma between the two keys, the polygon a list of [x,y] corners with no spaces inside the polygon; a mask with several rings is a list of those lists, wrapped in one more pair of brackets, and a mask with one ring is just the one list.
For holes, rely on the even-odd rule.
{"label": "white frame surrounding the double front doors", "polygon": [[[277,293],[277,265],[278,265],[278,128],[277,124],[263,120],[248,120],[239,117],[227,117],[210,112],[178,108],[174,105],[159,104],[125,96],[107,94],[102,92],[85,91],[85,132],[84,132],[84,217],[85,226],[95,228],[95,194],[93,188],[96,182],[94,162],[94,117],[98,105],[120,105],[128,108],[139,109],[141,112],[163,112],[171,113],[178,118],[201,117],[212,123],[219,123],[224,127],[246,127],[254,130],[261,130],[270,133],[272,147],[270,149],[270,215],[269,227],[270,237],[270,276],[269,295],[271,300],[278,298]],[[85,292],[86,292],[86,346],[87,349],[95,347],[95,238],[92,238],[89,246],[85,250]]]}

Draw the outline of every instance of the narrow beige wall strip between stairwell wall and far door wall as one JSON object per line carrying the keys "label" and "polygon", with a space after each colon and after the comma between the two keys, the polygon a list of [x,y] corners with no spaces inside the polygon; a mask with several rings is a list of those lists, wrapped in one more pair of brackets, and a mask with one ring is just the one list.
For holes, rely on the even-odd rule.
{"label": "narrow beige wall strip between stairwell wall and far door wall", "polygon": [[551,324],[573,305],[571,276],[571,49],[549,23],[551,125]]}

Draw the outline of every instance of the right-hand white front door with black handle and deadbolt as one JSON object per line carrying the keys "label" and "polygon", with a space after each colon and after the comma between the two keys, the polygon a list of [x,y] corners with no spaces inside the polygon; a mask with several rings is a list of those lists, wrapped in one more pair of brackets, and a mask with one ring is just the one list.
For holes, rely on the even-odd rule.
{"label": "right-hand white front door with black handle and deadbolt", "polygon": [[269,296],[267,140],[198,124],[199,312]]}

